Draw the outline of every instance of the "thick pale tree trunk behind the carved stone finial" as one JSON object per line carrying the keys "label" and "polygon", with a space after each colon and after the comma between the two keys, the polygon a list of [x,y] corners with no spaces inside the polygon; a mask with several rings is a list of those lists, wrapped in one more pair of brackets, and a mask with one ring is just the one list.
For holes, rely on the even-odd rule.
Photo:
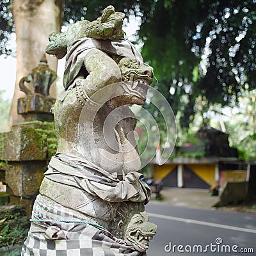
{"label": "thick pale tree trunk behind the carved stone finial", "polygon": [[[26,97],[20,92],[19,81],[28,76],[35,68],[45,47],[50,33],[59,32],[61,28],[62,0],[14,0],[13,18],[17,42],[17,72],[15,90],[10,110],[8,128],[23,121],[17,113],[17,99]],[[57,60],[47,56],[49,67],[56,71]],[[50,95],[56,97],[56,86],[52,86]]]}

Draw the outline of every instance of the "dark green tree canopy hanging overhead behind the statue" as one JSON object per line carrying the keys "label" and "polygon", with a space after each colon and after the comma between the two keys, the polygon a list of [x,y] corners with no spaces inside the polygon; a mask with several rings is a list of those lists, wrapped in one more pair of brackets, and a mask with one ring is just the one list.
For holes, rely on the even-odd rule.
{"label": "dark green tree canopy hanging overhead behind the statue", "polygon": [[[0,1],[4,40],[13,31],[10,3]],[[102,0],[66,0],[63,4],[64,24],[94,20],[108,5]],[[142,54],[158,80],[153,86],[180,116],[181,127],[193,120],[198,97],[205,102],[200,110],[205,115],[216,102],[234,105],[246,83],[250,90],[256,87],[254,0],[113,0],[111,4],[126,19],[138,18]],[[4,47],[5,43],[0,53]]]}

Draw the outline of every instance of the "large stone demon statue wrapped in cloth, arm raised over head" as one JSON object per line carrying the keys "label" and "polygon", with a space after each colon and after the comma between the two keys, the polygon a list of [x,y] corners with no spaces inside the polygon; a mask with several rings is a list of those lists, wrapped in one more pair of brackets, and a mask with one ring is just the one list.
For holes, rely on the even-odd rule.
{"label": "large stone demon statue wrapped in cloth, arm raised over head", "polygon": [[108,6],[97,20],[50,35],[46,51],[58,58],[67,52],[65,92],[54,105],[58,150],[22,255],[146,255],[156,234],[144,208],[151,191],[138,172],[129,109],[145,102],[153,69],[122,39],[123,19]]}

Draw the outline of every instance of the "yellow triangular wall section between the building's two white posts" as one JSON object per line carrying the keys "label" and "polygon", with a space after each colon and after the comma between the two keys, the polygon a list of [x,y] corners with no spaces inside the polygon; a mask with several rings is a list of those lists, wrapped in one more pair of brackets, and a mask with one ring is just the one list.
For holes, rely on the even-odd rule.
{"label": "yellow triangular wall section between the building's two white posts", "polygon": [[186,164],[186,166],[210,186],[215,185],[215,164]]}

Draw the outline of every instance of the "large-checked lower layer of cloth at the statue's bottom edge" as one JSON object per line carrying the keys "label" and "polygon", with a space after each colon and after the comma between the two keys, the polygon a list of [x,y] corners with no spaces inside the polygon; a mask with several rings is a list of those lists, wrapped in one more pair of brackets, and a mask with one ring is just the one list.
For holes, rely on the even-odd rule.
{"label": "large-checked lower layer of cloth at the statue's bottom edge", "polygon": [[[52,223],[53,224],[53,223]],[[45,239],[42,232],[29,232],[22,256],[144,256],[131,247],[116,243],[104,232],[84,223],[54,223],[66,230],[67,239]]]}

